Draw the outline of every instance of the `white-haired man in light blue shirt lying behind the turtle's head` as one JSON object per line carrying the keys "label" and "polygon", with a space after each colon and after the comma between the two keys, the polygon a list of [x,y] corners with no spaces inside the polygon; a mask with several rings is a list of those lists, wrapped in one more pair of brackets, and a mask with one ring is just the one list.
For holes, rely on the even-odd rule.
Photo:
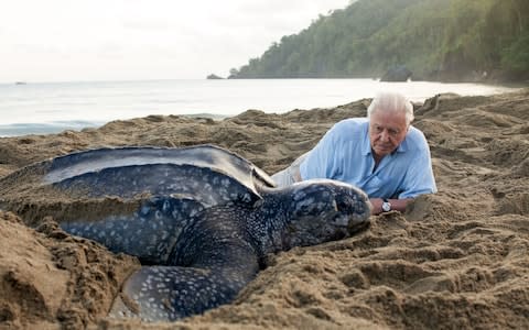
{"label": "white-haired man in light blue shirt lying behind the turtle's head", "polygon": [[311,178],[349,183],[367,193],[374,215],[403,211],[417,196],[438,190],[427,139],[412,121],[413,107],[402,95],[378,94],[367,118],[336,123],[272,178],[279,186]]}

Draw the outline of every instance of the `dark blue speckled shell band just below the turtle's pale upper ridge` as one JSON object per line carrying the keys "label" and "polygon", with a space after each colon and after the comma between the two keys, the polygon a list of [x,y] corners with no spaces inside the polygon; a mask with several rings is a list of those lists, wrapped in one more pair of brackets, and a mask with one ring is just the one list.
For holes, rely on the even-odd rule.
{"label": "dark blue speckled shell band just below the turtle's pale upper ridge", "polygon": [[78,198],[106,196],[131,199],[139,195],[184,195],[215,206],[228,201],[253,204],[261,197],[240,182],[214,168],[181,164],[108,167],[55,182],[52,186]]}

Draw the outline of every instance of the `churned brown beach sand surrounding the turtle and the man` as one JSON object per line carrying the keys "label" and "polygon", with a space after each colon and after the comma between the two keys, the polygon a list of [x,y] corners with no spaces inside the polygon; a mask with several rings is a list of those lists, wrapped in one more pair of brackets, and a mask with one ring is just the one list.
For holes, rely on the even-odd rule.
{"label": "churned brown beach sand surrounding the turtle and the man", "polygon": [[[439,193],[369,230],[270,257],[230,305],[176,323],[106,318],[138,261],[0,211],[0,329],[529,328],[529,90],[415,105]],[[214,143],[272,174],[369,100],[214,121],[151,116],[100,129],[0,139],[0,176],[100,146]],[[15,197],[15,196],[10,196]],[[43,196],[42,198],[46,198]],[[31,223],[28,223],[31,222]]]}

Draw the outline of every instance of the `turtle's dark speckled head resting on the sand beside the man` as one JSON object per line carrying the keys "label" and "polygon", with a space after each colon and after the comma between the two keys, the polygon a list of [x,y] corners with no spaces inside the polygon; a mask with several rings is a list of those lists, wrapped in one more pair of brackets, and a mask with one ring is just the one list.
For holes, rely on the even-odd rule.
{"label": "turtle's dark speckled head resting on the sand beside the man", "polygon": [[282,233],[285,250],[339,240],[369,226],[369,199],[352,185],[313,179],[287,189],[290,205]]}

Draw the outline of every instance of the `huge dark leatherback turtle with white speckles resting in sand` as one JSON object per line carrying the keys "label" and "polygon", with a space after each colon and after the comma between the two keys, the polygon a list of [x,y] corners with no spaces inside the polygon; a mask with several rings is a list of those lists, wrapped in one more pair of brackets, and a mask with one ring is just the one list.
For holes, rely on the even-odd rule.
{"label": "huge dark leatherback turtle with white speckles resting in sand", "polygon": [[137,256],[143,266],[109,315],[149,321],[231,301],[267,254],[350,235],[367,228],[371,208],[339,182],[276,188],[262,169],[213,145],[73,153],[9,175],[0,193],[4,209],[51,215],[66,232]]}

